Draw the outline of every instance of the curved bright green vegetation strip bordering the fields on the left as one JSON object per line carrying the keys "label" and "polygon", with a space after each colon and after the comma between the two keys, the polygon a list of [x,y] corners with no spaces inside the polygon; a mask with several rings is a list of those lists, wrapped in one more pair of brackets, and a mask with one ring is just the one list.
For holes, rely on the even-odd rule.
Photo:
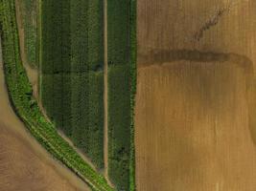
{"label": "curved bright green vegetation strip bordering the fields on the left", "polygon": [[0,24],[3,41],[4,73],[12,108],[30,133],[56,159],[71,169],[92,190],[113,190],[73,148],[58,135],[54,125],[43,117],[32,96],[32,86],[22,66],[15,21],[14,0],[0,0]]}

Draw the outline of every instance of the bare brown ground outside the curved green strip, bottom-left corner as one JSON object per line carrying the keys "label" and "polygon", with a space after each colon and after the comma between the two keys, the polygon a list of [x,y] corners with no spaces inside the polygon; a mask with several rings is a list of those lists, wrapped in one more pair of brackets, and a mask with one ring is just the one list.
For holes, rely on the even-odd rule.
{"label": "bare brown ground outside the curved green strip, bottom-left corner", "polygon": [[7,94],[0,46],[0,190],[83,191],[87,186],[37,143],[15,116]]}

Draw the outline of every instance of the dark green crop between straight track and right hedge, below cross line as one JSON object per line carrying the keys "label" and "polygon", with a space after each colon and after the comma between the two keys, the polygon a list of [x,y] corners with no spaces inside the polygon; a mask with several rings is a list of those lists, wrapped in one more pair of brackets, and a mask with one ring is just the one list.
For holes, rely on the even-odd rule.
{"label": "dark green crop between straight track and right hedge, below cross line", "polygon": [[108,168],[118,190],[128,190],[130,103],[129,66],[108,69]]}

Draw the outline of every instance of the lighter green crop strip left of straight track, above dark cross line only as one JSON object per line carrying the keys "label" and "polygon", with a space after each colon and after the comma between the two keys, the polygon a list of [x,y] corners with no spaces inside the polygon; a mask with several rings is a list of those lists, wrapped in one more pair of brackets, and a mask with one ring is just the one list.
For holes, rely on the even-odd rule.
{"label": "lighter green crop strip left of straight track, above dark cross line only", "polygon": [[102,0],[70,0],[71,71],[102,71],[104,29]]}

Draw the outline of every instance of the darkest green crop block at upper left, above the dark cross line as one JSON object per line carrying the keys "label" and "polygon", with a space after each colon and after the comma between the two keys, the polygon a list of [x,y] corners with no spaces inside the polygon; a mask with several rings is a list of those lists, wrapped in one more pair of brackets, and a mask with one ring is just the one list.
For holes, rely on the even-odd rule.
{"label": "darkest green crop block at upper left, above the dark cross line", "polygon": [[70,71],[69,0],[42,1],[42,74]]}

